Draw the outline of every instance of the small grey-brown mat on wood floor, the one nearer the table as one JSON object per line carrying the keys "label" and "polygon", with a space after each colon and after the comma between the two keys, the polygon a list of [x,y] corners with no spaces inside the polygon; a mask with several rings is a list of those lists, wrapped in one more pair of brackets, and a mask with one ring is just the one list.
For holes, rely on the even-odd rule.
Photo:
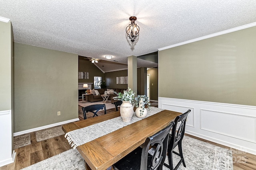
{"label": "small grey-brown mat on wood floor, the one nearer the table", "polygon": [[36,132],[36,141],[40,142],[40,141],[44,141],[52,137],[57,137],[64,134],[65,133],[64,131],[62,131],[62,126],[44,129]]}

